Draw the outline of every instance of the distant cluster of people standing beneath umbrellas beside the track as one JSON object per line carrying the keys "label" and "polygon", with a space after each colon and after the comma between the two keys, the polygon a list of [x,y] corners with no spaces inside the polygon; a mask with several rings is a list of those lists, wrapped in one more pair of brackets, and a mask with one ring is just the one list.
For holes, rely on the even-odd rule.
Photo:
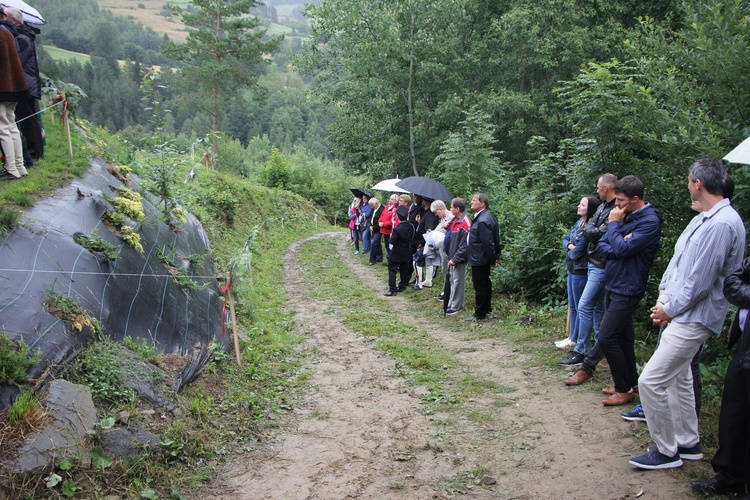
{"label": "distant cluster of people standing beneath umbrellas beside the track", "polygon": [[363,194],[349,205],[349,228],[355,254],[369,254],[369,265],[388,263],[388,291],[393,297],[409,286],[432,288],[442,273],[444,288],[438,300],[447,301],[446,315],[463,311],[467,267],[471,268],[475,308],[466,321],[483,321],[492,312],[492,267],[500,258],[497,219],[484,193],[466,201],[453,198],[448,208],[441,200],[415,194],[392,194],[387,205]]}

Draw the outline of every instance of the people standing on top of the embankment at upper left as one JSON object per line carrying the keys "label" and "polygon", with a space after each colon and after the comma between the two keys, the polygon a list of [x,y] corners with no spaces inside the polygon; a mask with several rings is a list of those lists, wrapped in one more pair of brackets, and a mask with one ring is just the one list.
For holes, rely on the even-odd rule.
{"label": "people standing on top of the embankment at upper left", "polygon": [[[28,175],[44,154],[43,130],[37,115],[42,95],[35,39],[38,30],[23,13],[0,5],[0,180]],[[20,127],[20,130],[19,130]]]}

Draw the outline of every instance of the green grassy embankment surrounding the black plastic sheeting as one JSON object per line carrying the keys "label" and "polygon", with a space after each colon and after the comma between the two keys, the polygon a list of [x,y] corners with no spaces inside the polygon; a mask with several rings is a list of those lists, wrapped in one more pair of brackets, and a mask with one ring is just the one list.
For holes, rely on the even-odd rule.
{"label": "green grassy embankment surrounding the black plastic sheeting", "polygon": [[[74,134],[75,154],[68,158],[60,127],[46,122],[45,128],[44,160],[29,176],[0,183],[3,207],[14,214],[82,175],[90,157],[121,152],[122,144],[101,130],[89,129],[88,144]],[[189,170],[188,162],[184,168]],[[185,174],[180,171],[176,179],[181,181]],[[132,391],[116,386],[122,349],[165,367],[170,359],[142,342],[115,344],[103,332],[63,376],[98,388],[94,394],[101,418],[97,429],[111,426],[120,412],[127,412],[128,426],[143,425],[159,436],[157,452],[111,460],[101,455],[101,448],[94,448],[91,456],[60,463],[53,473],[61,480],[53,486],[41,476],[0,477],[0,496],[5,492],[10,498],[50,494],[94,498],[106,493],[181,498],[210,478],[226,456],[252,446],[261,436],[260,428],[273,426],[273,414],[283,411],[304,385],[306,375],[299,371],[303,355],[295,349],[301,338],[294,333],[290,298],[279,286],[284,273],[281,256],[291,242],[315,233],[318,224],[320,230],[330,227],[323,217],[320,223],[315,221],[313,214],[320,210],[291,193],[205,170],[190,184],[179,183],[176,193],[201,219],[217,272],[233,270],[242,366],[237,366],[233,354],[220,352],[204,375],[177,395],[178,411],[163,418],[157,413],[154,418],[143,411],[147,407],[134,399]],[[16,216],[10,227],[19,223],[23,219]],[[226,335],[231,336],[229,327]]]}

